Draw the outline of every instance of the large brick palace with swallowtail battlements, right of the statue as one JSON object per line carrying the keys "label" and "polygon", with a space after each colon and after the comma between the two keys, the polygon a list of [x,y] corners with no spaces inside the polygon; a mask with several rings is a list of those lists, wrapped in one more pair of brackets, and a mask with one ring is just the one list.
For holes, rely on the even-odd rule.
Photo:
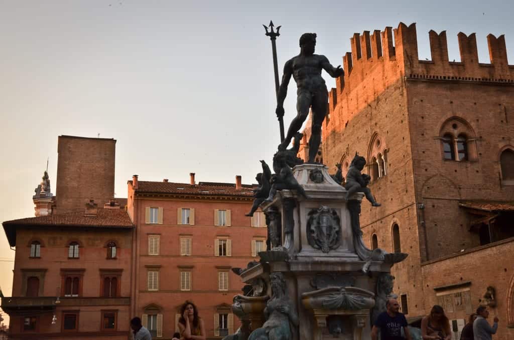
{"label": "large brick palace with swallowtail battlements, right of the statue", "polygon": [[382,206],[363,203],[364,239],[409,253],[393,267],[408,317],[440,304],[457,338],[467,316],[486,303],[500,318],[495,338],[508,340],[514,66],[503,35],[487,36],[490,64],[479,63],[474,33],[458,34],[460,62],[449,61],[445,32],[429,36],[432,60],[420,61],[415,24],[400,23],[394,36],[390,27],[354,34],[345,75],[329,91],[323,159],[341,163],[345,175],[355,152],[366,157],[364,172]]}

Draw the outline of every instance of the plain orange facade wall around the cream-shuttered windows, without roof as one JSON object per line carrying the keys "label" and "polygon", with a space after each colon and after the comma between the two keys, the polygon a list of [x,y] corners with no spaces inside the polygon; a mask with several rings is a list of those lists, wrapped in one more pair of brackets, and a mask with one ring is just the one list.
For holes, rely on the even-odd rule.
{"label": "plain orange facade wall around the cream-shuttered windows, without roof", "polygon": [[[127,209],[137,221],[137,287],[135,298],[135,314],[144,313],[145,306],[151,304],[161,308],[163,315],[163,338],[171,338],[175,332],[175,314],[186,299],[193,301],[204,319],[208,337],[214,336],[215,306],[232,305],[232,298],[240,294],[243,284],[240,277],[229,268],[245,268],[250,261],[258,257],[251,256],[251,240],[266,239],[266,228],[251,227],[250,217],[244,216],[252,204],[251,197],[243,201],[233,199],[189,199],[173,198],[155,199],[152,197],[134,196],[132,185],[128,186]],[[145,207],[163,208],[163,223],[145,224]],[[194,208],[195,225],[177,225],[177,208]],[[214,209],[230,209],[231,226],[214,226]],[[148,234],[160,235],[160,254],[148,255]],[[192,256],[180,256],[179,238],[181,235],[192,238]],[[214,239],[217,236],[232,240],[232,256],[214,256]],[[148,267],[160,265],[159,291],[147,290]],[[180,268],[191,271],[191,291],[180,291]],[[216,268],[216,267],[222,268]],[[229,271],[229,290],[218,291],[218,271]],[[235,331],[239,321],[234,316]]]}

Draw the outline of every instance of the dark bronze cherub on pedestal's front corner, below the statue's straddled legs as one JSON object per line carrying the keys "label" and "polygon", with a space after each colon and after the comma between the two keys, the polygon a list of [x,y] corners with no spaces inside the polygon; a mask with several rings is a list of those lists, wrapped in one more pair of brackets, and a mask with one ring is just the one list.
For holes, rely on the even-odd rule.
{"label": "dark bronze cherub on pedestal's front corner, below the statue's straddled legs", "polygon": [[277,193],[277,190],[296,190],[299,195],[307,197],[305,190],[298,183],[295,176],[292,174],[291,168],[286,162],[287,153],[279,151],[273,156],[273,170],[275,173],[271,176],[271,189],[269,190],[269,196],[266,198],[266,202],[273,201],[273,197]]}

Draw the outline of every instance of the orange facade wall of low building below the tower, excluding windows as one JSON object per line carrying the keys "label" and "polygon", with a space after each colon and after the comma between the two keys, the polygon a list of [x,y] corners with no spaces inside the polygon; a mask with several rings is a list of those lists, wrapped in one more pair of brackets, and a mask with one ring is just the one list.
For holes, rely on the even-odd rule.
{"label": "orange facade wall of low building below the tower, excluding windows", "polygon": [[[82,294],[78,298],[92,298],[87,306],[58,306],[56,309],[57,323],[52,325],[53,312],[37,314],[37,329],[39,333],[53,333],[52,338],[59,338],[62,327],[63,310],[79,310],[78,331],[81,338],[101,339],[101,310],[117,310],[117,330],[109,338],[126,339],[130,321],[130,305],[96,305],[95,298],[101,296],[100,269],[123,269],[120,281],[120,296],[130,297],[131,283],[131,256],[132,256],[132,229],[115,231],[114,229],[47,229],[42,227],[33,229],[18,228],[16,232],[16,254],[14,262],[14,278],[12,296],[25,296],[22,291],[23,269],[46,269],[44,276],[43,294],[40,296],[61,296],[62,276],[61,269],[85,269],[83,276]],[[30,258],[30,243],[42,243],[41,257]],[[68,244],[71,241],[79,242],[79,258],[68,258]],[[107,259],[106,244],[116,242],[117,258]],[[40,282],[40,286],[43,282]],[[68,303],[69,301],[67,301]],[[10,332],[13,338],[34,338],[34,333],[22,332],[23,317],[11,316]],[[88,333],[88,334],[85,334]],[[66,338],[69,338],[67,336]]]}

